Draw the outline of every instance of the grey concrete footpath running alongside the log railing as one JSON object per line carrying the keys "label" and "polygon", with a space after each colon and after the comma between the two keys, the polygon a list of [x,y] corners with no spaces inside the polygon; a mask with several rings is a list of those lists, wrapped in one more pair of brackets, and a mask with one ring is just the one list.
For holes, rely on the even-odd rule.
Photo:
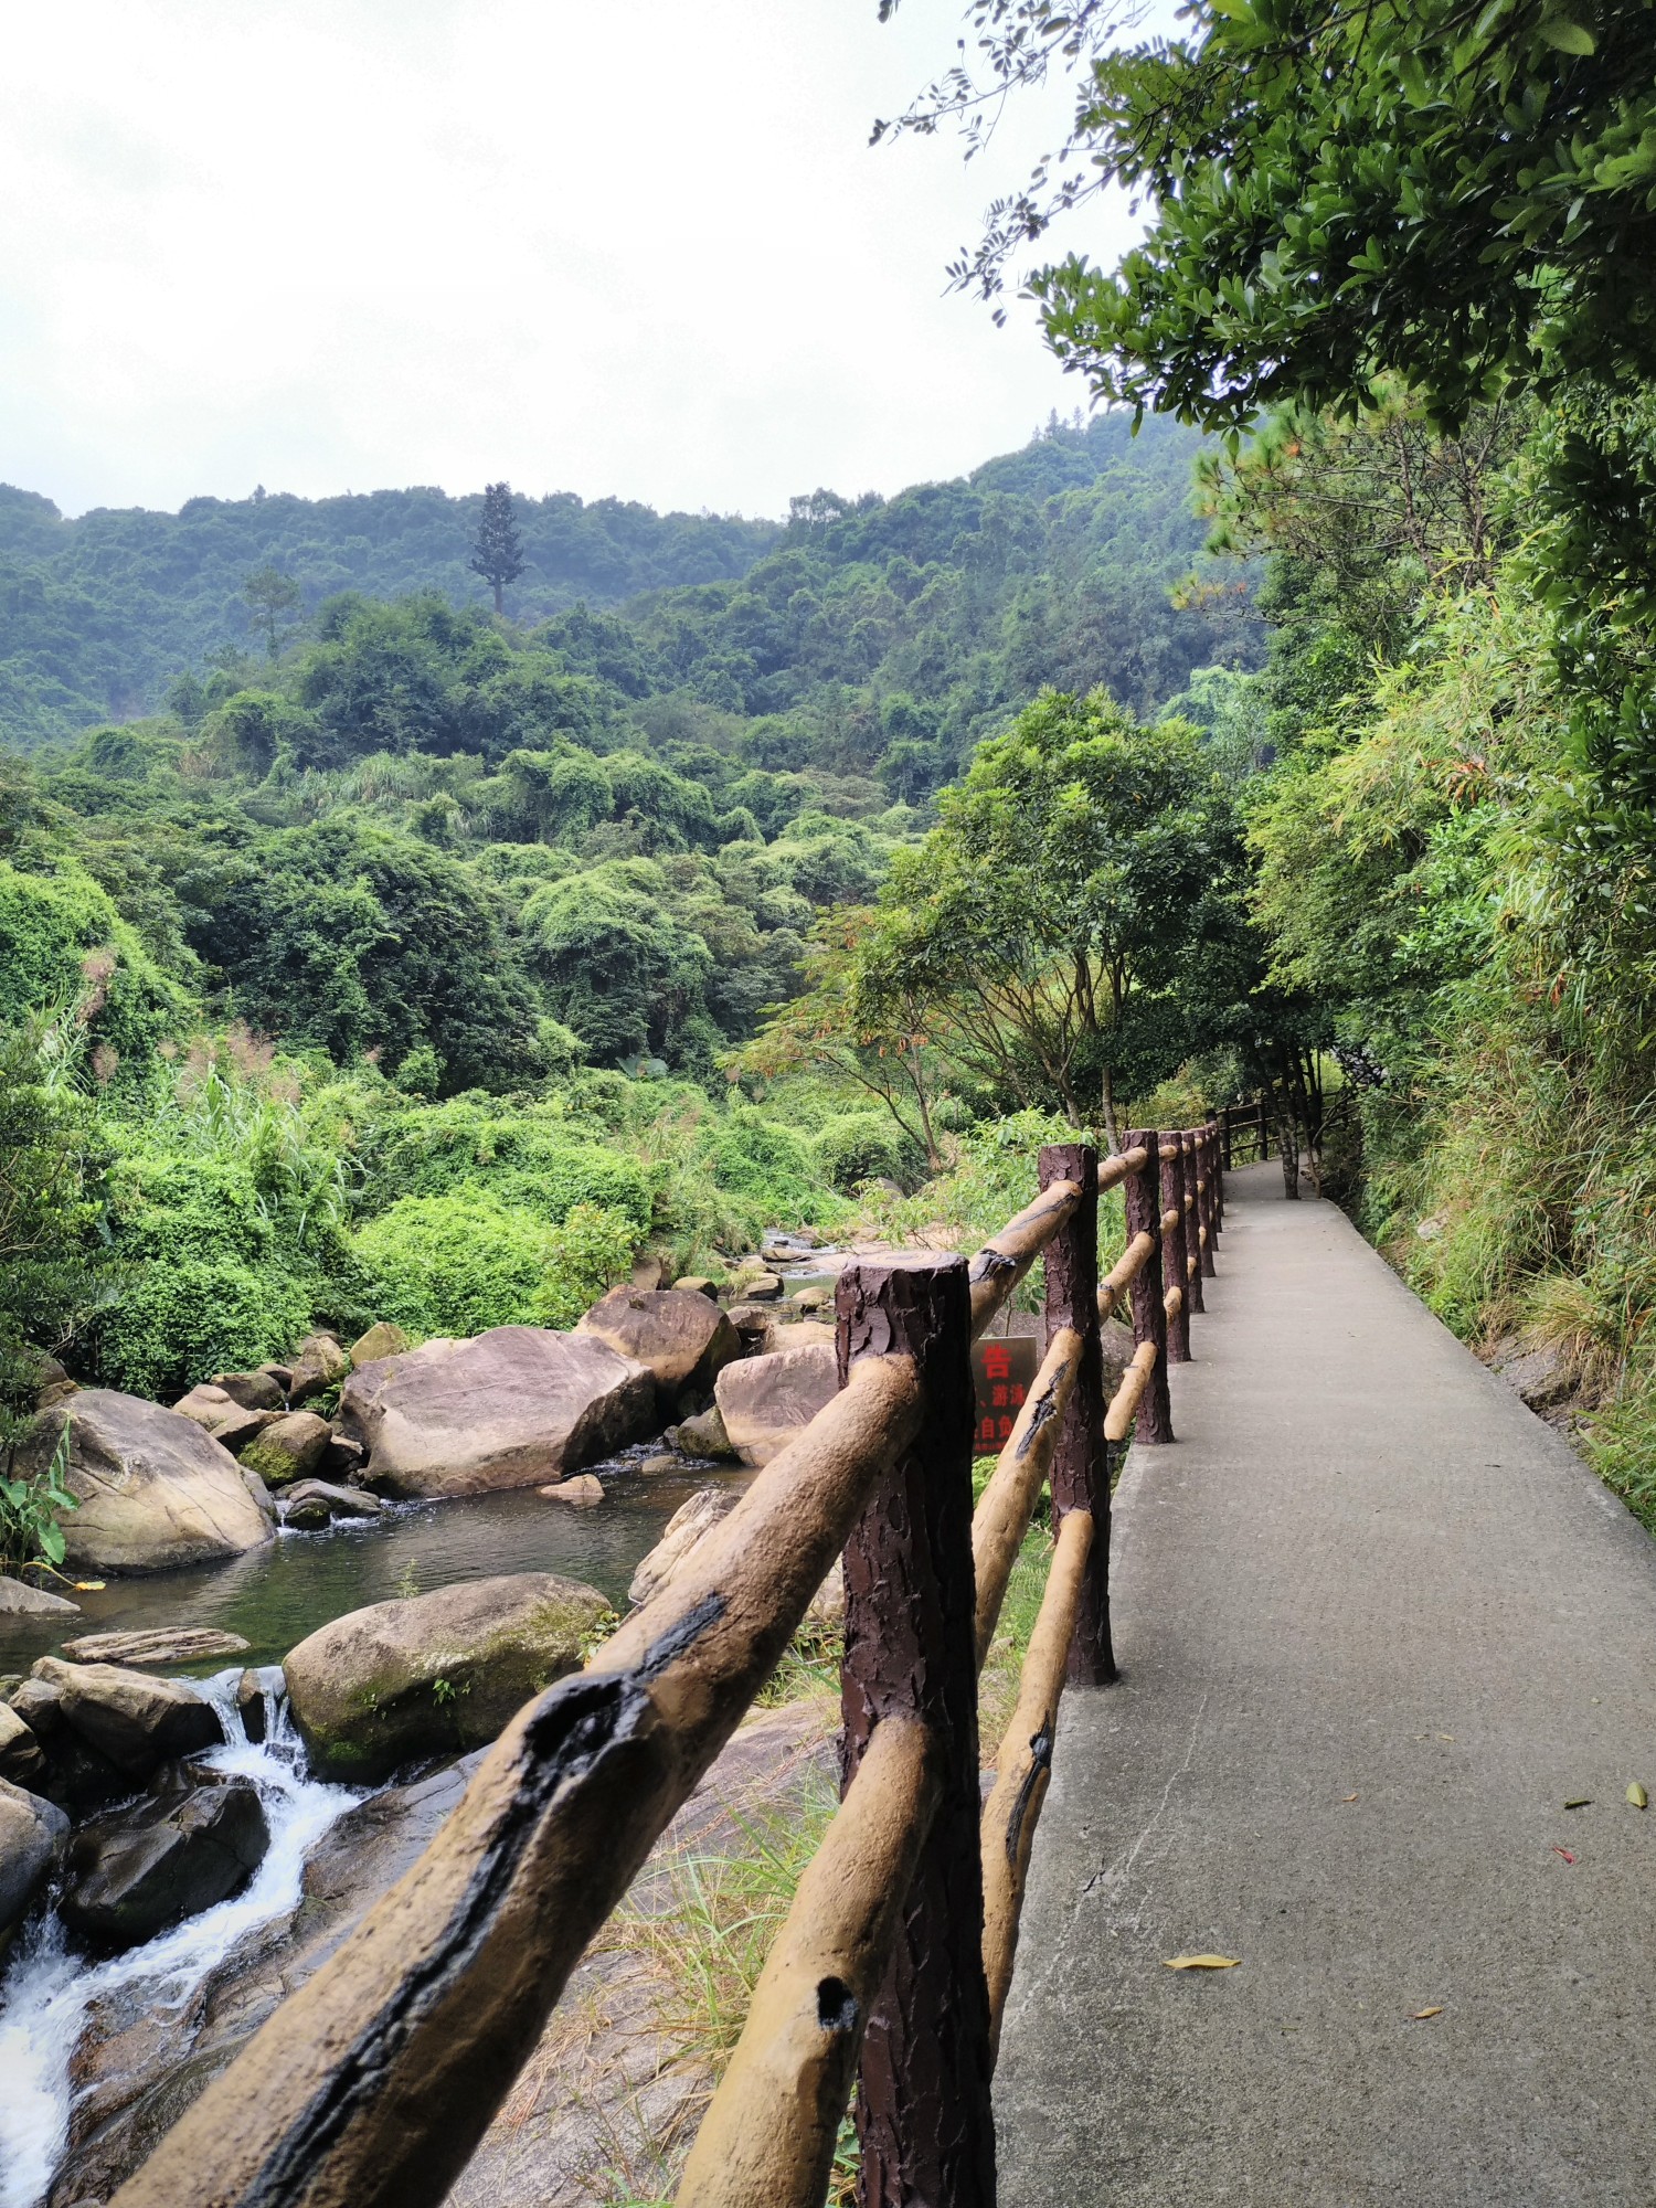
{"label": "grey concrete footpath running alongside the log railing", "polygon": [[1656,1546],[1278,1168],[1206,1294],[1062,1705],[1002,2208],[1652,2208]]}

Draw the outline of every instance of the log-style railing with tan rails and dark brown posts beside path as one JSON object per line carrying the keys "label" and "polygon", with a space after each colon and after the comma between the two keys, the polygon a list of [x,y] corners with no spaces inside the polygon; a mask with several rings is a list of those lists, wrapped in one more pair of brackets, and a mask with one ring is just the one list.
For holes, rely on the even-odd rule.
{"label": "log-style railing with tan rails and dark brown posts beside path", "polygon": [[[819,2208],[852,2091],[863,2208],[994,2208],[989,2080],[1060,1696],[1115,1678],[1111,1471],[1128,1433],[1172,1440],[1168,1365],[1212,1276],[1225,1148],[1219,1119],[1137,1128],[1102,1161],[1055,1144],[972,1261],[846,1267],[835,1400],[585,1671],[519,1711],[420,1861],[110,2208],[437,2208],[837,1554],[841,1804],[678,2208]],[[1100,1281],[1115,1186],[1126,1248]],[[1038,1256],[1047,1356],[974,1510],[972,1340]],[[980,1806],[978,1671],[1042,1486],[1053,1561]]]}

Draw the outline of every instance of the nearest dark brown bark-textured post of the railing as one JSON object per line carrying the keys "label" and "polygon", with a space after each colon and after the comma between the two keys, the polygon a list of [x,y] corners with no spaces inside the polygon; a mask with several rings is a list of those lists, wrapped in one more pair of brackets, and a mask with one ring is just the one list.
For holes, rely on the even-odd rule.
{"label": "nearest dark brown bark-textured post of the railing", "polygon": [[841,1382],[863,1356],[907,1356],[925,1404],[919,1437],[846,1543],[841,1791],[881,1718],[914,1713],[943,1744],[938,1811],[863,2036],[857,2199],[861,2208],[994,2208],[965,1259],[848,1265],[835,1307]]}

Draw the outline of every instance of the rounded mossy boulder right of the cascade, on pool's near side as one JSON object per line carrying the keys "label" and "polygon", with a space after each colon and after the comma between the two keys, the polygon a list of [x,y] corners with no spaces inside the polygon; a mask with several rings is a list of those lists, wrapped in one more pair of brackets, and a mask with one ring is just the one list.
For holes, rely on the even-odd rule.
{"label": "rounded mossy boulder right of the cascade, on pool's near side", "polygon": [[574,1579],[512,1572],[333,1618],[283,1663],[311,1766],[371,1786],[420,1755],[484,1747],[581,1667],[607,1610]]}

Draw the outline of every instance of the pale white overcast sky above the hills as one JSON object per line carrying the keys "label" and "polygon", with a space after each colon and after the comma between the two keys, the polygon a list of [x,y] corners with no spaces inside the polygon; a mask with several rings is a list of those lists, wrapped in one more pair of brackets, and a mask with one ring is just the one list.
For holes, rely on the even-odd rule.
{"label": "pale white overcast sky above the hills", "polygon": [[[64,512],[508,477],[775,514],[1084,400],[943,296],[1020,179],[868,148],[958,0],[0,0],[0,479]],[[1078,243],[1135,225],[1093,205]]]}

